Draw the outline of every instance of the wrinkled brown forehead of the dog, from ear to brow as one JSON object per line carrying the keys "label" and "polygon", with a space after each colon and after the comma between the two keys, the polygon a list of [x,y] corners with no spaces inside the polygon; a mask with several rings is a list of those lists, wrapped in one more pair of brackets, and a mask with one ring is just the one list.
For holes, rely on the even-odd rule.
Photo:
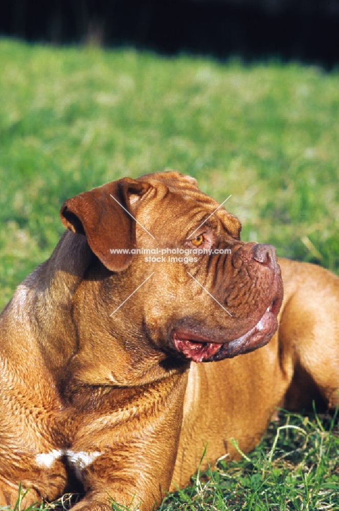
{"label": "wrinkled brown forehead of the dog, from ear to brow", "polygon": [[[169,175],[166,176],[166,174]],[[215,199],[201,192],[194,178],[182,174],[179,174],[180,177],[178,178],[177,174],[168,172],[162,175],[151,174],[149,176],[153,185],[156,181],[159,182],[162,188],[165,185],[167,200],[176,210],[180,208],[180,205],[182,206],[183,211],[189,216],[187,220],[190,221],[192,227],[198,227],[199,223],[204,221],[206,221],[206,224],[210,224],[219,220],[222,227],[233,238],[238,239],[241,223],[237,217],[225,210],[223,206],[219,207],[220,204]],[[161,176],[161,178],[159,179],[158,176]],[[208,218],[209,220],[207,220]]]}

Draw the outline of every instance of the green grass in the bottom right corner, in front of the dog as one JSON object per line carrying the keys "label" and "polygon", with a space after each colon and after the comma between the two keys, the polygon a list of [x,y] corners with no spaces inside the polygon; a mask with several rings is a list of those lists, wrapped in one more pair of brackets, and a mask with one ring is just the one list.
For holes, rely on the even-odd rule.
{"label": "green grass in the bottom right corner, in front of the dog", "polygon": [[241,461],[221,460],[168,496],[161,511],[339,509],[339,435],[335,416],[280,413]]}

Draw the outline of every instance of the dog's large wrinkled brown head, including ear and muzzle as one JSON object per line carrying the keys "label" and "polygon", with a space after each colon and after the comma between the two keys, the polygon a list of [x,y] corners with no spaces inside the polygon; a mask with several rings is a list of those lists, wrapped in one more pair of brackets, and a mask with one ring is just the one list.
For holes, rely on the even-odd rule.
{"label": "dog's large wrinkled brown head, including ear and muzzle", "polygon": [[66,200],[60,215],[96,255],[85,278],[134,361],[145,339],[154,359],[209,362],[253,351],[277,330],[274,247],[240,241],[239,220],[195,179],[123,178]]}

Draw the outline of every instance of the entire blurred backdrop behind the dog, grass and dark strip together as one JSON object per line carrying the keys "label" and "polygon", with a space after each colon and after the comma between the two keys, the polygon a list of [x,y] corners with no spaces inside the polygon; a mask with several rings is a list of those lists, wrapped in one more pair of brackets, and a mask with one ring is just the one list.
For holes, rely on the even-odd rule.
{"label": "entire blurred backdrop behind the dog, grass and dark strip together", "polygon": [[339,0],[2,0],[0,306],[62,202],[176,169],[339,274]]}

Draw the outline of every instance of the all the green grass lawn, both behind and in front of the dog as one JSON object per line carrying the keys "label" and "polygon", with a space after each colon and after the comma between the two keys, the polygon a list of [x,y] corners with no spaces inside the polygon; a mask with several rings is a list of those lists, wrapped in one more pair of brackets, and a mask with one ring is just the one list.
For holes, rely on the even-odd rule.
{"label": "all the green grass lawn, both behind and in front of the dog", "polygon": [[[0,308],[47,259],[62,202],[177,169],[242,239],[339,274],[339,72],[0,39]],[[337,421],[282,414],[241,462],[168,497],[174,509],[339,509]],[[274,449],[273,449],[274,445]]]}

